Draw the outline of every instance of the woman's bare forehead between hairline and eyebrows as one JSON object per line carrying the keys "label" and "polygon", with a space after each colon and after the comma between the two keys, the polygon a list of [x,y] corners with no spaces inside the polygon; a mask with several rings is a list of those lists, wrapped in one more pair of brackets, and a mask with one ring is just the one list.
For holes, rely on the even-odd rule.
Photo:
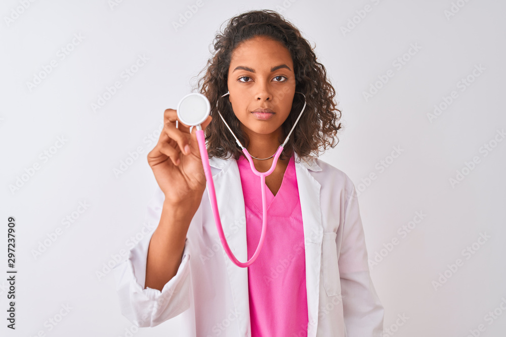
{"label": "woman's bare forehead between hairline and eyebrows", "polygon": [[243,41],[237,46],[232,53],[229,68],[240,65],[270,69],[271,66],[283,63],[293,69],[288,49],[279,41],[260,36]]}

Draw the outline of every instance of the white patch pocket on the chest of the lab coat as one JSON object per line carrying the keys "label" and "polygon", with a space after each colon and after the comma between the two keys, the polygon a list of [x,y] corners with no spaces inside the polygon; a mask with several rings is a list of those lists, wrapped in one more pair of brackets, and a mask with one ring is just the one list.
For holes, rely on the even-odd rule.
{"label": "white patch pocket on the chest of the lab coat", "polygon": [[335,245],[336,233],[323,233],[322,260],[323,286],[327,296],[341,294],[341,280],[339,278],[338,249]]}

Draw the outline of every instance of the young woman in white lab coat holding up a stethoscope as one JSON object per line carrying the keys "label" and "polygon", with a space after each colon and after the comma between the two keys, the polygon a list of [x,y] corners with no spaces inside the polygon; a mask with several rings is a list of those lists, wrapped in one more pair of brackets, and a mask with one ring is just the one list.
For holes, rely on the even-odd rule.
{"label": "young woman in white lab coat holding up a stethoscope", "polygon": [[217,103],[260,172],[300,116],[265,179],[264,245],[247,268],[225,254],[196,130],[167,109],[148,154],[160,188],[147,221],[158,226],[115,268],[123,315],[143,327],[180,315],[182,336],[382,336],[384,308],[369,274],[355,186],[317,158],[341,129],[325,68],[300,31],[269,10],[232,18],[214,46],[198,83],[212,107],[202,128],[221,223],[241,262],[255,253],[262,230],[260,177]]}

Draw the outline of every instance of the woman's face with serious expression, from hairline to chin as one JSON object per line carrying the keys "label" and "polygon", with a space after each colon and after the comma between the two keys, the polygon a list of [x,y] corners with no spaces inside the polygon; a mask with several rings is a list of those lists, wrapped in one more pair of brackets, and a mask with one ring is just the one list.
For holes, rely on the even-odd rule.
{"label": "woman's face with serious expression, from hairline to chin", "polygon": [[[263,36],[243,41],[232,54],[227,84],[234,114],[250,138],[282,133],[296,83],[290,52],[280,42]],[[274,113],[252,113],[257,109]]]}

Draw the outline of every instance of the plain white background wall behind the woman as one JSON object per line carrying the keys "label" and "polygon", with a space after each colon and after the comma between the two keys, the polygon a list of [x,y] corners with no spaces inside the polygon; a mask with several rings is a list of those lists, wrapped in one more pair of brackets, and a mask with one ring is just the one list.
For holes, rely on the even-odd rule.
{"label": "plain white background wall behind the woman", "polygon": [[[506,3],[202,1],[177,30],[174,22],[196,2],[46,0],[27,2],[26,9],[19,0],[2,2],[0,333],[128,335],[133,324],[120,314],[114,276],[104,264],[114,265],[131,247],[155,191],[146,160],[155,143],[148,135],[157,135],[163,111],[190,92],[220,25],[245,10],[273,9],[316,45],[338,93],[345,129],[339,145],[320,158],[361,191],[369,258],[379,261],[371,275],[386,309],[385,328],[396,336],[467,336],[483,324],[480,335],[503,335],[506,141],[494,137],[503,140],[497,130],[506,128]],[[366,5],[370,11],[360,12]],[[452,6],[454,15],[445,15]],[[419,49],[409,55],[411,45]],[[63,60],[62,47],[72,49]],[[139,56],[148,60],[126,81],[121,74]],[[399,69],[393,62],[403,57]],[[52,60],[57,67],[30,88]],[[394,76],[364,98],[389,70]],[[462,90],[459,81],[468,76],[472,83]],[[92,104],[115,81],[121,88],[94,112]],[[456,98],[431,121],[428,114],[453,90]],[[494,147],[486,156],[485,144]],[[138,158],[116,175],[139,147]],[[390,161],[394,147],[402,152]],[[44,151],[53,151],[47,161]],[[465,169],[475,156],[479,163]],[[390,163],[383,172],[382,160]],[[36,163],[39,169],[30,170]],[[465,175],[452,185],[457,170]],[[371,172],[376,179],[367,182]],[[26,181],[12,191],[18,178]],[[89,205],[83,213],[76,213],[79,202]],[[403,237],[398,229],[416,212],[426,216]],[[65,227],[62,219],[72,213],[75,220]],[[16,218],[15,331],[5,319],[9,216]],[[61,235],[34,256],[57,227]],[[489,236],[483,245],[480,233]],[[389,250],[392,239],[397,245]],[[473,243],[473,254],[463,255]],[[451,271],[457,259],[462,264]],[[447,280],[436,287],[440,273]],[[67,304],[72,309],[50,331],[48,320]],[[486,316],[494,310],[495,319]],[[408,317],[402,326],[396,326],[398,315]],[[175,318],[134,335],[177,335],[177,324]]]}

